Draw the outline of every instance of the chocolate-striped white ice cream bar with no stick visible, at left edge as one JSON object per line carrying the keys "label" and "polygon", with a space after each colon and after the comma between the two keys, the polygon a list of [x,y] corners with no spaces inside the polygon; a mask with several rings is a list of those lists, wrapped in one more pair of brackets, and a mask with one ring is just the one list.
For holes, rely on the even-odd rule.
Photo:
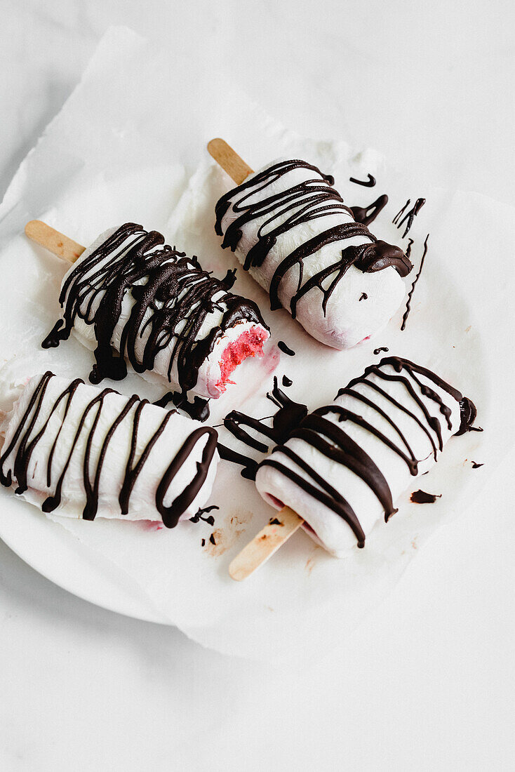
{"label": "chocolate-striped white ice cream bar with no stick visible, at left edge", "polygon": [[0,433],[2,485],[44,512],[83,520],[173,528],[205,504],[219,461],[215,429],[51,372],[20,387]]}

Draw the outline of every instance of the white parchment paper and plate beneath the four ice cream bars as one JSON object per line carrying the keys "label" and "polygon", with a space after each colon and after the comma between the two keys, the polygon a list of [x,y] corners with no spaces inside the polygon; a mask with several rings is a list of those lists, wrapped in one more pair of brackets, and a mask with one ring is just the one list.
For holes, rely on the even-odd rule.
{"label": "white parchment paper and plate beneath the four ice cream bars", "polygon": [[[235,257],[220,249],[214,232],[215,201],[232,186],[205,151],[214,136],[225,137],[253,168],[281,155],[309,159],[334,174],[347,205],[368,205],[388,193],[388,205],[371,229],[378,238],[404,247],[408,238],[414,240],[415,272],[406,279],[408,287],[430,235],[406,330],[400,331],[401,307],[385,330],[346,352],[312,340],[285,311],[270,312],[266,294],[239,268],[235,291],[259,303],[273,340],[262,361],[247,361],[239,368],[238,386],[211,402],[210,423],[219,424],[232,408],[256,417],[271,415],[274,408],[266,391],[273,386],[274,373],[292,379],[287,391],[296,401],[309,408],[326,404],[350,378],[378,361],[381,355],[374,355],[374,348],[385,346],[391,354],[432,368],[472,398],[478,408],[476,423],[485,431],[452,438],[435,469],[413,481],[411,490],[422,487],[441,493],[441,499],[417,505],[409,502],[408,491],[388,525],[378,523],[365,549],[354,548],[343,560],[330,557],[305,533],[296,533],[259,573],[244,583],[233,582],[227,571],[230,560],[273,510],[252,482],[242,479],[239,467],[222,462],[209,502],[219,506],[215,526],[185,523],[166,530],[56,517],[46,520],[44,531],[49,567],[38,567],[66,586],[66,577],[59,579],[59,571],[50,567],[53,542],[64,528],[80,540],[96,570],[106,567],[105,587],[93,595],[86,590],[79,594],[117,608],[106,597],[115,573],[134,587],[138,608],[148,604],[147,618],[177,625],[219,652],[263,659],[293,651],[312,655],[344,645],[347,632],[391,590],[438,527],[456,515],[467,527],[467,503],[513,442],[513,415],[503,401],[510,377],[503,362],[509,330],[499,317],[500,309],[510,307],[513,267],[508,256],[504,265],[500,262],[498,249],[510,243],[513,210],[477,194],[421,188],[410,175],[388,168],[374,151],[357,152],[341,140],[300,137],[247,100],[225,73],[206,71],[195,62],[178,63],[173,52],[161,51],[130,30],[111,29],[80,85],[22,163],[0,208],[4,384],[46,369],[87,378],[93,361],[91,352],[73,339],[56,350],[39,347],[59,315],[57,297],[66,265],[25,239],[23,226],[29,219],[41,218],[85,244],[103,229],[133,220],[161,230],[168,242],[197,254],[202,266],[217,276],[238,267]],[[349,181],[368,173],[378,180],[373,189]],[[408,198],[414,202],[418,196],[426,203],[408,237],[401,239],[403,231],[391,221]],[[494,220],[495,248],[489,226]],[[278,340],[285,340],[296,355],[279,354]],[[136,374],[114,388],[151,399],[165,391]],[[0,408],[5,408],[5,394],[7,389]],[[224,428],[220,434],[222,442],[247,452]],[[473,469],[473,462],[484,466]],[[12,490],[2,489],[0,495],[0,535],[8,523],[9,543],[16,549],[12,519],[18,519],[22,539],[34,510]],[[23,554],[22,543],[18,548]],[[88,584],[86,570],[83,582]]]}

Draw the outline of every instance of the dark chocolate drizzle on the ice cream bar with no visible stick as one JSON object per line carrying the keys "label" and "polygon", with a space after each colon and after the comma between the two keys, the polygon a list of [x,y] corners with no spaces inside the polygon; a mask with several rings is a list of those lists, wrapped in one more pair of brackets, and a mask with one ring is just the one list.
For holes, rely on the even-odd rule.
{"label": "dark chocolate drizzle on the ice cream bar with no visible stick", "polygon": [[[94,520],[97,516],[99,505],[100,475],[102,473],[103,462],[110,440],[122,422],[131,422],[130,453],[118,496],[120,513],[122,515],[127,515],[130,510],[130,495],[137,482],[137,478],[140,476],[141,470],[147,463],[148,456],[155,443],[158,442],[158,438],[164,432],[172,415],[177,413],[177,411],[172,410],[164,413],[161,425],[158,427],[157,431],[154,432],[154,435],[152,435],[144,449],[141,450],[138,447],[138,428],[141,414],[144,411],[145,406],[149,403],[146,399],[140,400],[136,395],[127,398],[124,407],[120,410],[117,418],[115,418],[107,432],[107,435],[103,438],[100,452],[96,453],[94,449],[95,432],[102,419],[104,400],[108,394],[117,394],[116,391],[110,388],[105,388],[102,391],[96,390],[96,395],[83,409],[78,428],[76,428],[73,440],[69,444],[69,452],[63,470],[60,475],[56,477],[53,472],[53,455],[56,450],[59,436],[63,431],[69,408],[75,398],[77,389],[80,388],[83,381],[81,381],[80,378],[72,381],[64,391],[59,394],[49,409],[49,405],[43,405],[43,403],[45,401],[49,381],[52,378],[55,378],[55,376],[51,372],[46,372],[42,376],[32,394],[29,405],[25,410],[25,414],[22,416],[19,425],[15,429],[11,442],[3,449],[2,456],[0,456],[0,482],[2,482],[3,486],[8,487],[12,485],[12,480],[15,479],[17,482],[15,493],[17,494],[24,493],[25,490],[29,488],[27,476],[32,453],[35,452],[36,447],[41,442],[41,454],[44,457],[44,454],[46,453],[46,443],[51,442],[51,437],[53,436],[52,433],[47,435],[46,432],[53,432],[55,430],[49,428],[50,421],[53,419],[53,425],[55,427],[56,419],[59,420],[57,418],[59,415],[57,412],[59,406],[64,405],[63,417],[60,419],[61,422],[56,437],[53,439],[53,444],[49,448],[48,460],[46,462],[46,485],[52,493],[50,493],[42,503],[42,510],[43,512],[52,512],[59,506],[62,499],[63,482],[73,452],[75,452],[76,449],[79,449],[80,452],[80,448],[84,447],[83,479],[81,482],[86,496],[86,503],[82,516],[83,520]],[[48,410],[48,417],[42,423],[42,427],[39,428],[39,431],[35,434],[34,427],[36,423],[39,422],[41,413],[43,412],[43,415],[45,415],[45,411]],[[91,422],[90,428],[88,428],[87,419],[90,415],[93,416],[93,422]],[[163,523],[167,528],[173,528],[177,525],[181,514],[188,509],[188,506],[195,500],[195,497],[202,488],[212,457],[215,453],[217,436],[217,432],[211,427],[195,428],[185,439],[185,442],[175,455],[174,459],[171,459],[168,469],[166,469],[159,482],[157,493],[155,495],[156,509],[161,514]],[[176,499],[174,499],[170,506],[164,506],[164,499],[167,496],[172,480],[178,474],[181,466],[188,459],[189,455],[191,455],[191,452],[195,449],[195,445],[197,445],[202,438],[206,437],[207,442],[205,442],[204,449],[202,450],[202,460],[197,462],[195,477],[187,486],[185,486],[184,490],[176,497]],[[5,462],[9,455],[15,450],[16,445],[18,445],[18,448],[16,449],[15,457],[11,462],[9,469],[5,471]]]}

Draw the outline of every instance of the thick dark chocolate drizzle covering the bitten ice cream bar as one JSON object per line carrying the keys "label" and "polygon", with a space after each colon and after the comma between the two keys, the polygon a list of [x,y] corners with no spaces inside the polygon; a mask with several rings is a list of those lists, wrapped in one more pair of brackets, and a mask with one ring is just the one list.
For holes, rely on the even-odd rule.
{"label": "thick dark chocolate drizzle covering the bitten ice cream bar", "polygon": [[[229,271],[222,281],[215,279],[202,270],[196,257],[188,258],[185,252],[164,245],[161,233],[127,222],[71,269],[59,296],[63,319],[42,347],[55,347],[66,340],[80,318],[93,326],[97,339],[91,383],[125,378],[124,357],[136,372],[151,371],[158,354],[167,349],[168,381],[175,364],[181,390],[189,391],[195,388],[198,370],[225,330],[240,320],[266,327],[256,303],[229,292],[234,278],[235,272]],[[119,351],[115,351],[111,345],[114,329],[129,296],[134,302],[120,333]],[[222,313],[222,320],[198,339],[202,324],[214,311]],[[143,336],[144,351],[137,354]]]}

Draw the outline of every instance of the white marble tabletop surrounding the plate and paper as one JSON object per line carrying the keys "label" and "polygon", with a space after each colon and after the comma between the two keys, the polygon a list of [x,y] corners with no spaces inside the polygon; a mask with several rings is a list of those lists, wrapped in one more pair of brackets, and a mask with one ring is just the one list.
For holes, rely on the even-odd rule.
{"label": "white marble tabletop surrounding the plate and paper", "polygon": [[[181,61],[232,61],[303,134],[513,204],[511,5],[1,0],[0,193],[104,30],[126,24]],[[512,769],[513,462],[361,628],[342,620],[341,651],[301,667],[94,608],[0,543],[2,770]]]}

